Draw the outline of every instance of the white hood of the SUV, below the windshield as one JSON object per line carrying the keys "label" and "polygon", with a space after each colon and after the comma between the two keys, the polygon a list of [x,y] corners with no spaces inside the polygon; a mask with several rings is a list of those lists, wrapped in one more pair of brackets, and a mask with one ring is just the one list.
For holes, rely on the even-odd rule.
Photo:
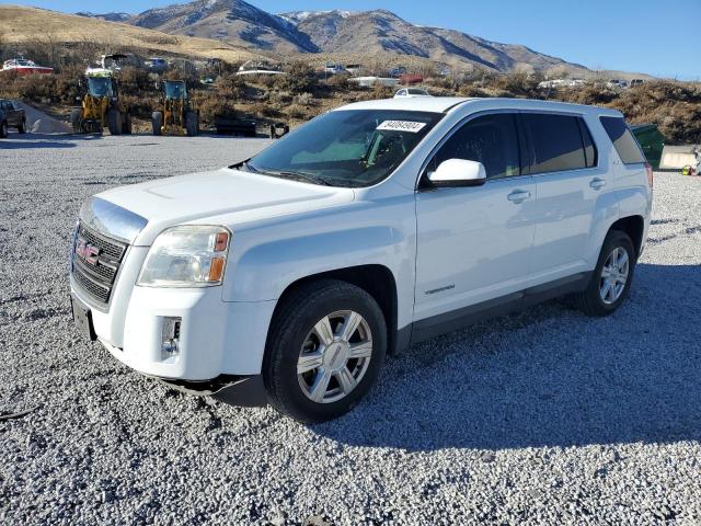
{"label": "white hood of the SUV, below the windshield", "polygon": [[[106,235],[149,245],[164,228],[207,224],[217,216],[226,225],[267,219],[349,203],[350,188],[321,186],[256,173],[221,169],[119,186],[93,197],[81,219]],[[116,207],[114,206],[116,205]],[[87,210],[88,208],[88,210]],[[124,218],[133,227],[124,230]],[[126,232],[126,233],[125,233]]]}

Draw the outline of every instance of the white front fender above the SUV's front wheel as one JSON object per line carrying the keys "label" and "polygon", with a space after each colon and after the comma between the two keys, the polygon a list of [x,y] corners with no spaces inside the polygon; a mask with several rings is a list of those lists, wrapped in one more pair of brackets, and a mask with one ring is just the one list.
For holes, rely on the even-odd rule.
{"label": "white front fender above the SUV's front wheel", "polygon": [[398,325],[411,323],[416,258],[413,194],[231,228],[225,301],[277,300],[301,278],[381,265],[397,284]]}

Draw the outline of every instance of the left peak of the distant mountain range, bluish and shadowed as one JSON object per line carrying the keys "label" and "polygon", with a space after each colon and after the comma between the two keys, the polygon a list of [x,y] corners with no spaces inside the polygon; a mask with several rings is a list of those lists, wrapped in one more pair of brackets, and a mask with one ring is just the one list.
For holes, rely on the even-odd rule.
{"label": "left peak of the distant mountain range, bluish and shadowed", "polygon": [[129,20],[139,27],[232,42],[256,50],[317,53],[309,35],[281,16],[242,0],[196,0],[150,9]]}

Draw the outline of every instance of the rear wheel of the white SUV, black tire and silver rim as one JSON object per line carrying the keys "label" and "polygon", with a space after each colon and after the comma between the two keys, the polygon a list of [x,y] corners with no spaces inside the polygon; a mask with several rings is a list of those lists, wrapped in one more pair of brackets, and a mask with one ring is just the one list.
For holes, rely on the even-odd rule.
{"label": "rear wheel of the white SUV, black tire and silver rim", "polygon": [[[622,288],[619,291],[619,285],[621,273],[611,274],[609,268],[613,262],[613,252],[618,251],[617,258],[622,261],[621,251],[624,252],[624,258],[628,261],[628,270],[625,275],[625,282],[622,284]],[[587,316],[602,317],[609,316],[614,312],[623,301],[628,298],[633,282],[633,274],[635,271],[635,263],[637,258],[635,254],[635,248],[631,238],[620,230],[610,230],[601,245],[601,252],[597,262],[591,281],[585,290],[577,293],[571,297],[574,307],[583,311]],[[607,270],[605,271],[605,266]],[[617,265],[618,266],[618,265]],[[614,282],[613,288],[607,287],[606,278],[608,275],[613,275],[613,278],[609,278],[609,283]],[[604,295],[604,289],[608,289],[608,294]],[[606,299],[605,299],[606,298]]]}

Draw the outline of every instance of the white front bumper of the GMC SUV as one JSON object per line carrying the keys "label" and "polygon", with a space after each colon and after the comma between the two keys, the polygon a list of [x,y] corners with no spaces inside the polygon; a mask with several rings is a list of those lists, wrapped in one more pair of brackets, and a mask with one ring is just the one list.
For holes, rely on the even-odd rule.
{"label": "white front bumper of the GMC SUV", "polygon": [[[207,381],[221,375],[261,373],[275,301],[227,302],[221,287],[138,287],[127,286],[122,277],[110,309],[91,309],[97,340],[119,362],[170,380]],[[128,291],[120,293],[122,288]],[[91,307],[72,281],[71,293]],[[175,356],[162,352],[165,317],[182,320]]]}

